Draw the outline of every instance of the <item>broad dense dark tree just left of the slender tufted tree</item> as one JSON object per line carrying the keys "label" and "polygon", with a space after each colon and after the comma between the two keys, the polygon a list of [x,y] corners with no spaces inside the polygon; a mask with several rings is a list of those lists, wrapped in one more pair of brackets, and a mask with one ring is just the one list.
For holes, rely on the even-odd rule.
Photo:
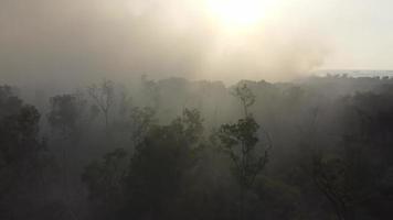
{"label": "broad dense dark tree just left of the slender tufted tree", "polygon": [[197,162],[202,120],[185,109],[169,125],[155,125],[131,156],[126,187],[134,218],[171,219],[170,205]]}

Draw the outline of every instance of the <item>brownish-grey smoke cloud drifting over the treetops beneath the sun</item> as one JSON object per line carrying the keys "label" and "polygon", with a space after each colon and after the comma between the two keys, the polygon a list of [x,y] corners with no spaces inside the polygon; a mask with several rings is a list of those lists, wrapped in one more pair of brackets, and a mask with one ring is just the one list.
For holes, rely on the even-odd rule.
{"label": "brownish-grey smoke cloud drifting over the treetops beneath the sun", "polygon": [[225,33],[200,2],[1,0],[0,80],[64,85],[142,74],[287,80],[323,63],[328,45],[307,22],[276,16]]}

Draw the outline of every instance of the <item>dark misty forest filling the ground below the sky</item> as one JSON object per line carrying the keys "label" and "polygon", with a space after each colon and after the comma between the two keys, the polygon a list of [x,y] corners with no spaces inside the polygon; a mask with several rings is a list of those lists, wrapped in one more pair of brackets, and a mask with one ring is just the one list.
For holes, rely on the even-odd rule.
{"label": "dark misty forest filling the ground below the sky", "polygon": [[0,86],[2,220],[393,215],[393,79],[31,94]]}

